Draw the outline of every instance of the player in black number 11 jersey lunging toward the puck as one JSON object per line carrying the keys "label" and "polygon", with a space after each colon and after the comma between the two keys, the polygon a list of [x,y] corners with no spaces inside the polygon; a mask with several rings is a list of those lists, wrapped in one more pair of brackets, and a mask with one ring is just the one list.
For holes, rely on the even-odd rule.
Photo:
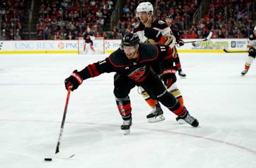
{"label": "player in black number 11 jersey lunging toward the puck", "polygon": [[[103,61],[90,64],[82,71],[75,70],[65,80],[66,89],[73,86],[75,90],[82,84],[83,80],[96,77],[102,73],[118,72],[114,81],[114,95],[119,113],[123,119],[121,129],[125,135],[130,132],[132,125],[131,103],[129,98],[130,90],[142,86],[151,97],[154,97],[174,114],[184,121],[198,126],[198,121],[191,116],[185,106],[170,94],[158,75],[152,70],[151,65],[165,60],[173,61],[172,48],[166,45],[139,44],[138,35],[132,33],[122,38],[121,47]],[[172,75],[173,66],[166,64],[163,78],[167,81]]]}

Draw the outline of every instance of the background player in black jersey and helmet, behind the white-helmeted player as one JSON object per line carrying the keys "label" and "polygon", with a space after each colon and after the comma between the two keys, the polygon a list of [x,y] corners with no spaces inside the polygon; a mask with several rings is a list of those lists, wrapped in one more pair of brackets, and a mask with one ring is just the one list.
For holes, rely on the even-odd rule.
{"label": "background player in black jersey and helmet, behind the white-helmeted player", "polygon": [[[172,33],[173,33],[174,37],[176,38],[177,44],[179,44],[179,46],[183,46],[184,41],[181,40],[181,38],[180,38],[179,28],[178,28],[178,26],[173,24],[172,21],[173,21],[172,15],[168,14],[166,16],[165,22],[171,28]],[[177,51],[177,49],[176,49],[176,51]],[[180,58],[178,56],[178,52],[177,52],[177,57],[174,59],[174,62],[175,62],[175,65],[178,68],[178,74],[180,75],[180,77],[186,78],[186,74],[183,73],[182,69],[181,69]]]}

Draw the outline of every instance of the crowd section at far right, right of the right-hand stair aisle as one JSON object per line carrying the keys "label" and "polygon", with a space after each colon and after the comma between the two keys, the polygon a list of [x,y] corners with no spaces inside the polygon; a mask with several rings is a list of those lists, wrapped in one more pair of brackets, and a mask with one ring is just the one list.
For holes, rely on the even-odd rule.
{"label": "crowd section at far right, right of the right-hand stair aisle", "polygon": [[209,31],[213,31],[212,38],[247,38],[256,26],[253,6],[253,0],[214,0],[209,12],[183,32],[183,38],[205,38]]}

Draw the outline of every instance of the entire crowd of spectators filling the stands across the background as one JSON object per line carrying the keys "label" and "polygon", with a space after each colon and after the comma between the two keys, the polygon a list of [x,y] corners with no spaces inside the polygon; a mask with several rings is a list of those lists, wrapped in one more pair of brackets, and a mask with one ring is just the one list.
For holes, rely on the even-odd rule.
{"label": "entire crowd of spectators filling the stands across the background", "polygon": [[[0,3],[0,39],[22,39],[26,14],[25,0],[2,0]],[[103,30],[109,22],[116,0],[41,0],[36,25],[37,39],[77,39],[93,35],[121,39],[139,22],[136,7],[143,0],[127,0],[117,26],[110,33]],[[150,1],[153,5],[155,1]],[[193,19],[201,0],[158,1],[156,18],[173,15],[182,38],[247,38],[255,26],[254,0],[213,0],[201,20]],[[254,9],[253,9],[254,6]]]}

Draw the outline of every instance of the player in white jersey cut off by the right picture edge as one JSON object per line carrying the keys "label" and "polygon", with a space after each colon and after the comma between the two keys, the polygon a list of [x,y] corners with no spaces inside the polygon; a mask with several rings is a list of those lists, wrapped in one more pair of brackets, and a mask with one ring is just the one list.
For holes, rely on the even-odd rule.
{"label": "player in white jersey cut off by the right picture edge", "polygon": [[250,69],[250,66],[256,56],[256,26],[253,29],[252,35],[249,36],[248,47],[249,47],[249,51],[248,51],[249,55],[245,62],[244,70],[241,72],[242,76],[244,76],[248,72],[248,70]]}

